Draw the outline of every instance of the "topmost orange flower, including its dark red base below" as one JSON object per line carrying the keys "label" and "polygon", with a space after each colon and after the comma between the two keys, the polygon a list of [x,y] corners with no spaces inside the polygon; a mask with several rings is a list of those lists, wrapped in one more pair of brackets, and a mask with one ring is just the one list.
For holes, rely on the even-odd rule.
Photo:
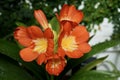
{"label": "topmost orange flower, including its dark red base below", "polygon": [[70,33],[83,19],[83,13],[80,10],[77,10],[74,5],[67,4],[63,5],[60,15],[56,14],[56,16],[60,22],[60,37],[63,37],[66,32]]}

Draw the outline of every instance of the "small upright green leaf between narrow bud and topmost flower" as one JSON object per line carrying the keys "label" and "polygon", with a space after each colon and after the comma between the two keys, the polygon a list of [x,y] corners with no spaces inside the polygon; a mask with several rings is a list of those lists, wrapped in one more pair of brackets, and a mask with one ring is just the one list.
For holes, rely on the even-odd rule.
{"label": "small upright green leaf between narrow bud and topmost flower", "polygon": [[60,25],[56,17],[53,17],[50,21],[52,29],[56,32],[56,34],[59,34],[60,31]]}

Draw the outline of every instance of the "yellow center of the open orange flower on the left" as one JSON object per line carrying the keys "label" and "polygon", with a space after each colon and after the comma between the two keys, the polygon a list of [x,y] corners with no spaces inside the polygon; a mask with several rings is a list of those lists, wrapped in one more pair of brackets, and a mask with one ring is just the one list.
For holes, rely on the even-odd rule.
{"label": "yellow center of the open orange flower on the left", "polygon": [[33,42],[35,43],[35,47],[33,49],[33,51],[40,53],[44,53],[47,50],[47,39],[45,38],[38,38],[36,40],[33,40]]}

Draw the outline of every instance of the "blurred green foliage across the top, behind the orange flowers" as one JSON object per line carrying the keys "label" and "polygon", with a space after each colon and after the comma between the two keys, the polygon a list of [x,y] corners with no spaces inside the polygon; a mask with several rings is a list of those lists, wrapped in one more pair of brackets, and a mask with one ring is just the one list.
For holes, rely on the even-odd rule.
{"label": "blurred green foliage across the top, behind the orange flowers", "polygon": [[27,26],[37,24],[33,15],[35,9],[42,9],[50,20],[65,3],[84,12],[81,24],[89,31],[96,32],[94,25],[99,26],[107,18],[114,24],[112,39],[120,38],[120,0],[0,0],[0,38],[8,38],[19,22]]}

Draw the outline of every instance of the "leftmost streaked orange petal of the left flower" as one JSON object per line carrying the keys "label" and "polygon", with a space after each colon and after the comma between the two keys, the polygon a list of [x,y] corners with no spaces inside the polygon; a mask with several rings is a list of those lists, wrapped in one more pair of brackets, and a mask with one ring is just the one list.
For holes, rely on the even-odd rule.
{"label": "leftmost streaked orange petal of the left flower", "polygon": [[17,27],[14,31],[14,38],[25,47],[30,46],[32,44],[32,39],[27,33],[25,27]]}

